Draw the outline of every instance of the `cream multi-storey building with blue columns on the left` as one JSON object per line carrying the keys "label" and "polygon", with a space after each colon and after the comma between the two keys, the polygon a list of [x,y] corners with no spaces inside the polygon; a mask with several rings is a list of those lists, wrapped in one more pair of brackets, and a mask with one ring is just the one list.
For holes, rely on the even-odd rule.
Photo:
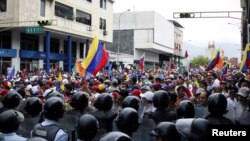
{"label": "cream multi-storey building with blue columns on the left", "polygon": [[0,0],[0,66],[71,71],[94,36],[113,41],[114,0]]}

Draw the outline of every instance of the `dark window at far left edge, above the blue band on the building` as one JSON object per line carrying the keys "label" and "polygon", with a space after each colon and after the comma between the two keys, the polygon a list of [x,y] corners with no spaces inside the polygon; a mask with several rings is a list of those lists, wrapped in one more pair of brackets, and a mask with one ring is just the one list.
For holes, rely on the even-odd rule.
{"label": "dark window at far left edge, above the blue band on the building", "polygon": [[0,32],[0,48],[5,48],[5,49],[11,48],[11,32],[10,31]]}

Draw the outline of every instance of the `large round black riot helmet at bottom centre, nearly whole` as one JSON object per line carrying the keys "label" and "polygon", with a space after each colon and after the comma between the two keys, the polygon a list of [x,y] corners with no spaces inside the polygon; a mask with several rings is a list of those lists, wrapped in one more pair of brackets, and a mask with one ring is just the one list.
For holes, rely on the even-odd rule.
{"label": "large round black riot helmet at bottom centre, nearly whole", "polygon": [[118,115],[116,126],[121,132],[132,136],[132,133],[136,132],[139,127],[139,116],[137,111],[130,107],[122,109],[121,113]]}

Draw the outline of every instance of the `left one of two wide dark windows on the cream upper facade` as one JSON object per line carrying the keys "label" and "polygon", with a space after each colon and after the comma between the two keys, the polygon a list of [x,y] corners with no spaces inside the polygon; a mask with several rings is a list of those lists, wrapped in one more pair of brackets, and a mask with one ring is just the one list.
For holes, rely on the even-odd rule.
{"label": "left one of two wide dark windows on the cream upper facade", "polygon": [[69,20],[74,19],[73,8],[59,2],[56,2],[55,15]]}

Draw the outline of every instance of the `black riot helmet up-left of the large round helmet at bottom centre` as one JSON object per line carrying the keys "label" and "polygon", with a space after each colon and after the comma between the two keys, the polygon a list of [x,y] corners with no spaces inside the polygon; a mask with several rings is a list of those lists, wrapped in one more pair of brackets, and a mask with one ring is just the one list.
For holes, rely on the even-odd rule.
{"label": "black riot helmet up-left of the large round helmet at bottom centre", "polygon": [[110,110],[113,106],[112,96],[107,93],[100,94],[97,97],[94,106],[98,110],[103,110],[103,111]]}

